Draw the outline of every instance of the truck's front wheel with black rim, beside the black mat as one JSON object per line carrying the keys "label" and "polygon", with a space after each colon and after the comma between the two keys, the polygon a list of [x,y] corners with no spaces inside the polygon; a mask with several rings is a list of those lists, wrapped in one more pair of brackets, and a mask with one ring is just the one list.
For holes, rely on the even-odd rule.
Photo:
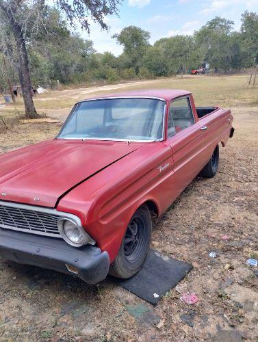
{"label": "truck's front wheel with black rim, beside the black mat", "polygon": [[109,274],[116,278],[131,278],[142,267],[151,244],[151,214],[142,205],[132,216],[116,259]]}

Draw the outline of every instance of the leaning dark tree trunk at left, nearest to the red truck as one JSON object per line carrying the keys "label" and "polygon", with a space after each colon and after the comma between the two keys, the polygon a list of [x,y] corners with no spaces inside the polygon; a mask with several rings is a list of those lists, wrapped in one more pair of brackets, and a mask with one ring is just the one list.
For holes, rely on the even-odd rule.
{"label": "leaning dark tree trunk at left, nearest to the red truck", "polygon": [[25,40],[20,32],[19,38],[16,37],[16,47],[18,50],[18,76],[21,83],[21,90],[23,92],[23,101],[25,105],[26,118],[37,118],[38,113],[34,107],[32,98],[31,78],[29,75],[29,60],[27,55],[27,49],[25,46]]}

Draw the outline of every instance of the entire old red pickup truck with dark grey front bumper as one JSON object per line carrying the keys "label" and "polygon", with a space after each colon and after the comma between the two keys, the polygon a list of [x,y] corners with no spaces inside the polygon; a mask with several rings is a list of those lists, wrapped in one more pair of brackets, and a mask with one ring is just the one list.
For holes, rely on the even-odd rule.
{"label": "entire old red pickup truck with dark grey front bumper", "polygon": [[0,156],[0,255],[90,284],[136,274],[162,215],[218,169],[229,109],[185,90],[142,90],[75,105],[55,139]]}

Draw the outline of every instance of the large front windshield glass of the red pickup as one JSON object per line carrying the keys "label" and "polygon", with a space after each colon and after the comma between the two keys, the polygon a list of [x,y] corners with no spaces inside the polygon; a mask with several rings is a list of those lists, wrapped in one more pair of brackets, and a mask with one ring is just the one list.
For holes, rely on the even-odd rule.
{"label": "large front windshield glass of the red pickup", "polygon": [[58,135],[64,139],[162,140],[165,102],[106,98],[78,103]]}

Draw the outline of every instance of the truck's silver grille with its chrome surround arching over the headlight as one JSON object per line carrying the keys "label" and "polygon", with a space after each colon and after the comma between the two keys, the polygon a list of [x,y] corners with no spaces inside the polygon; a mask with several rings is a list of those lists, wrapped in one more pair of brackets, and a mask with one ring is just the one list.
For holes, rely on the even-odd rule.
{"label": "truck's silver grille with its chrome surround arching over the headlight", "polygon": [[[14,209],[13,213],[12,209]],[[5,218],[3,218],[3,213]],[[40,217],[40,213],[43,215],[43,217]],[[44,214],[47,215],[44,216]],[[63,211],[57,211],[56,209],[51,208],[36,207],[34,205],[23,205],[20,203],[0,200],[0,228],[62,239],[57,226],[57,221],[60,220],[60,218],[70,218],[76,222],[79,227],[81,227],[81,220],[76,215],[71,213],[65,213]],[[48,227],[46,226],[45,220],[51,222],[49,223]],[[9,224],[4,224],[6,221],[8,221]],[[13,225],[10,225],[10,223]],[[37,224],[40,224],[40,226],[37,226]],[[21,225],[23,228],[21,228],[19,225]],[[24,226],[26,228],[24,228]],[[51,233],[51,231],[53,231],[53,233]]]}

